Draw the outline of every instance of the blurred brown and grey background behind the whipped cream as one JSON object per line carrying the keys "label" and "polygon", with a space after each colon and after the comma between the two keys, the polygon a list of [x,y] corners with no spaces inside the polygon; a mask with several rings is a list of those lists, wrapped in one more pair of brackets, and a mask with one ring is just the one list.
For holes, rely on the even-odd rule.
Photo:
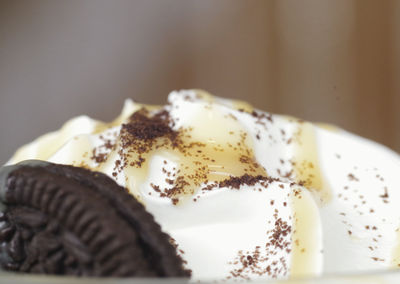
{"label": "blurred brown and grey background behind the whipped cream", "polygon": [[202,88],[400,151],[400,1],[0,0],[0,163],[67,119]]}

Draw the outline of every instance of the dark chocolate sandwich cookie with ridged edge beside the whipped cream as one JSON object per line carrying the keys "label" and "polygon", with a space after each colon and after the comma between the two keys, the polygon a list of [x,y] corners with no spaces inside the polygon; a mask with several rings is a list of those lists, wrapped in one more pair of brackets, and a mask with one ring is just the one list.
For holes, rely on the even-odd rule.
{"label": "dark chocolate sandwich cookie with ridged edge beside the whipped cream", "polygon": [[189,277],[143,205],[108,176],[25,161],[0,171],[0,265],[26,273]]}

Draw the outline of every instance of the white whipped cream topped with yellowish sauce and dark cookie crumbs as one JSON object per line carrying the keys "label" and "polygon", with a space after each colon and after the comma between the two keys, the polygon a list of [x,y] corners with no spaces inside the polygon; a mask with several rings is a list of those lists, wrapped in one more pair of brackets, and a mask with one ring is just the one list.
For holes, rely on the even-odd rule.
{"label": "white whipped cream topped with yellowish sauce and dark cookie crumbs", "polygon": [[400,157],[337,127],[204,91],[127,100],[23,146],[101,171],[140,200],[193,280],[290,278],[400,266]]}

